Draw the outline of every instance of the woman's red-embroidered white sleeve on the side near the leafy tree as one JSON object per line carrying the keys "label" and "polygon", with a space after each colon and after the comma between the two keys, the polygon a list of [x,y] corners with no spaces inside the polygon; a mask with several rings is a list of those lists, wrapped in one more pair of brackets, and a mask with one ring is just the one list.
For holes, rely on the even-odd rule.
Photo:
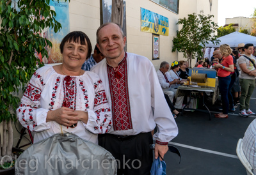
{"label": "woman's red-embroidered white sleeve on the side near the leafy tree", "polygon": [[17,118],[20,124],[31,131],[42,131],[49,128],[45,122],[48,110],[39,107],[44,86],[44,79],[35,72],[17,109]]}

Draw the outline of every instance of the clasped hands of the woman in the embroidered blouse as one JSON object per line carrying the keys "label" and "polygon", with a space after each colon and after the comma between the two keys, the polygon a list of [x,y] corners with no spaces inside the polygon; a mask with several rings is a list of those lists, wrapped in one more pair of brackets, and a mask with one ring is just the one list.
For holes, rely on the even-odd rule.
{"label": "clasped hands of the woman in the embroidered blouse", "polygon": [[87,123],[88,113],[81,110],[69,109],[68,107],[49,110],[46,118],[46,122],[56,121],[56,123],[63,126],[72,126],[79,120],[83,121],[83,123]]}

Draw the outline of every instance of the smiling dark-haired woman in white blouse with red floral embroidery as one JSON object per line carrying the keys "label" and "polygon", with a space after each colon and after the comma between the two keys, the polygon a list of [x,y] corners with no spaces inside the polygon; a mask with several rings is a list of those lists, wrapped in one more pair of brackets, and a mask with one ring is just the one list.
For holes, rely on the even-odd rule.
{"label": "smiling dark-haired woman in white blouse with red floral embroidery", "polygon": [[75,133],[97,144],[97,133],[112,126],[102,81],[81,69],[92,45],[86,34],[74,31],[60,44],[63,64],[36,70],[21,99],[20,124],[35,132],[34,142],[63,132]]}

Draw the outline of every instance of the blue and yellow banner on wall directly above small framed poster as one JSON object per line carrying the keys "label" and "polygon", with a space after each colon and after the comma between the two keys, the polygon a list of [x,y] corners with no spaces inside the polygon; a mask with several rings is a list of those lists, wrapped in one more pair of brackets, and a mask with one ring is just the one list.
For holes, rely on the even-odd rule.
{"label": "blue and yellow banner on wall directly above small framed poster", "polygon": [[162,15],[140,8],[141,11],[141,31],[148,33],[169,35],[169,20]]}

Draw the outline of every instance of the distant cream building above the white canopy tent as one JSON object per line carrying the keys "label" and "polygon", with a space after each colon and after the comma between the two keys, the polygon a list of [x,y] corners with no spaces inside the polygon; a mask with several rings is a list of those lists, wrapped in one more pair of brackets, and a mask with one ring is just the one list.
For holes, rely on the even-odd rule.
{"label": "distant cream building above the white canopy tent", "polygon": [[252,26],[253,26],[253,20],[252,18],[246,18],[246,17],[235,17],[235,18],[226,18],[225,24],[238,24],[238,27],[236,28],[236,31],[239,31],[240,27],[242,29],[249,29],[249,32],[252,32]]}

